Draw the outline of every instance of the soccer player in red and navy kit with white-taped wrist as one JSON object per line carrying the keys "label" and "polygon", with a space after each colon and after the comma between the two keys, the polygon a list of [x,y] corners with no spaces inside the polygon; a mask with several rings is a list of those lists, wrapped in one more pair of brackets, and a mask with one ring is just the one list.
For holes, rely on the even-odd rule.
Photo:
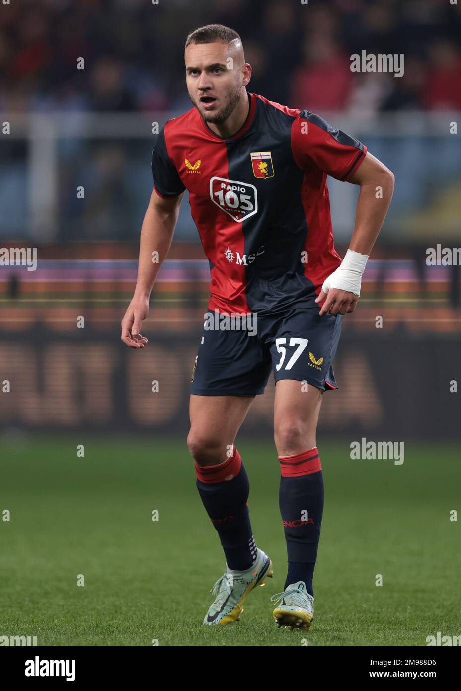
{"label": "soccer player in red and navy kit with white-taped wrist", "polygon": [[[288,552],[284,590],[271,598],[279,603],[273,618],[308,629],[324,504],[317,418],[322,395],[337,388],[332,362],[342,319],[357,305],[394,178],[366,146],[319,115],[248,93],[251,65],[235,31],[198,28],[187,37],[185,61],[193,108],[166,123],[153,150],[154,188],[121,338],[132,348],[148,342],[141,322],[188,189],[211,282],[187,442],[226,557],[204,624],[237,621],[244,598],[273,575],[271,559],[255,544],[248,475],[234,444],[272,371]],[[333,245],[328,175],[360,185],[343,260]],[[151,261],[155,251],[159,263]]]}

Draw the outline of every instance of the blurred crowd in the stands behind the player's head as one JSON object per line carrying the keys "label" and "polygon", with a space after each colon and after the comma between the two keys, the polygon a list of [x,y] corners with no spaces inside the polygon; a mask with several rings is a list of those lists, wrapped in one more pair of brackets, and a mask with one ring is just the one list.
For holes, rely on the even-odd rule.
{"label": "blurred crowd in the stands behind the player's head", "polygon": [[[248,91],[310,111],[461,109],[461,2],[21,0],[0,7],[1,111],[185,111],[186,35],[239,32]],[[404,54],[404,75],[352,73]],[[84,57],[85,68],[77,69]]]}

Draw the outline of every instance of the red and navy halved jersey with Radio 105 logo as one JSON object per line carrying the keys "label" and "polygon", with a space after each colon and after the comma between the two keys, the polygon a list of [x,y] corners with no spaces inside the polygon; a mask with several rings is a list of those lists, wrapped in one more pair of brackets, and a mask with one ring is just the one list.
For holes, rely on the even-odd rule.
{"label": "red and navy halved jersey with Radio 105 logo", "polygon": [[168,120],[152,155],[157,194],[189,191],[210,265],[209,310],[312,305],[341,263],[326,176],[347,180],[366,146],[322,117],[254,93],[242,128],[215,134],[197,108]]}

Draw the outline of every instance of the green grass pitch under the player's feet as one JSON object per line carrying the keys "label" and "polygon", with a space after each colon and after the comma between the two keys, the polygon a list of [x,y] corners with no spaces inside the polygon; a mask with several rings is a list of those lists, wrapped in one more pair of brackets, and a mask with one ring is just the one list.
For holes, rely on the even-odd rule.
{"label": "green grass pitch under the player's feet", "polygon": [[[461,464],[455,446],[405,444],[404,464],[351,460],[317,440],[326,484],[311,632],[278,630],[286,547],[273,444],[242,437],[257,545],[274,578],[239,623],[202,619],[224,556],[185,439],[31,438],[0,446],[0,635],[37,645],[426,645],[460,634]],[[77,445],[85,457],[77,457]],[[10,511],[10,522],[3,511]],[[159,511],[153,522],[152,511]],[[77,586],[83,574],[84,587]],[[382,574],[383,585],[375,585]],[[305,645],[305,643],[304,643]]]}

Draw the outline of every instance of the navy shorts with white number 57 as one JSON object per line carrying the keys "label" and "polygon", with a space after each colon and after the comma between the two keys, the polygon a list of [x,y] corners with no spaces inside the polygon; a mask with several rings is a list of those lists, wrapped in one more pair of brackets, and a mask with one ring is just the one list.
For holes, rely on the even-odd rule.
{"label": "navy shorts with white number 57", "polygon": [[333,358],[342,314],[319,316],[320,307],[292,307],[257,315],[257,333],[206,329],[193,365],[190,393],[199,396],[254,396],[264,393],[271,370],[275,381],[306,381],[336,389]]}

